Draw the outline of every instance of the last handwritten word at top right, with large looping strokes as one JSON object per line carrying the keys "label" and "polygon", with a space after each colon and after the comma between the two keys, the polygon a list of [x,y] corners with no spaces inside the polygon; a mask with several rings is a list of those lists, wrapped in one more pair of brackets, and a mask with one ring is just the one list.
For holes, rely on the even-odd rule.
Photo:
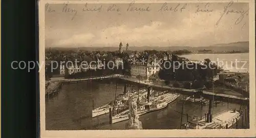
{"label": "last handwritten word at top right, with large looping strokes", "polygon": [[228,3],[228,5],[224,7],[223,13],[221,14],[219,20],[216,22],[216,25],[218,25],[220,23],[224,14],[229,14],[229,13],[240,14],[239,18],[236,20],[236,22],[234,22],[234,24],[239,24],[243,20],[245,14],[248,15],[249,9],[247,9],[247,10],[242,9],[241,11],[236,11],[236,10],[233,10],[233,9],[229,9],[233,5],[233,3],[234,3],[233,1],[230,1]]}

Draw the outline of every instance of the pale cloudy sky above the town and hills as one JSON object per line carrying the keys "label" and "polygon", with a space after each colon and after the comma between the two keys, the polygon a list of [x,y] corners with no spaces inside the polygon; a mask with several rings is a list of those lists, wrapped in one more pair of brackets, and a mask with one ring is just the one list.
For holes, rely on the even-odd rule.
{"label": "pale cloudy sky above the town and hills", "polygon": [[[249,16],[224,14],[228,3],[180,3],[177,11],[165,11],[178,3],[116,4],[119,11],[107,11],[113,4],[68,4],[75,12],[62,12],[64,4],[49,4],[45,12],[46,47],[118,47],[120,41],[130,46],[209,46],[249,41]],[[101,11],[82,9],[99,8]],[[130,11],[147,7],[149,11]],[[197,12],[197,8],[212,12]],[[49,12],[49,8],[51,11]],[[129,11],[127,9],[129,8]],[[117,9],[117,8],[116,8]],[[162,10],[161,10],[162,9]],[[228,11],[246,11],[248,4],[233,3]]]}

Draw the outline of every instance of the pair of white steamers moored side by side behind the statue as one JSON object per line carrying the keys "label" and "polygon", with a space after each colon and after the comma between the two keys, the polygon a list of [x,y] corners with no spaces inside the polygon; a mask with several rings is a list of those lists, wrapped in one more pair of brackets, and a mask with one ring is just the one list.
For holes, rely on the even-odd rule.
{"label": "pair of white steamers moored side by side behind the statue", "polygon": [[[111,122],[117,123],[129,119],[129,109],[127,101],[129,95],[133,95],[134,101],[138,104],[137,114],[138,116],[144,115],[149,112],[157,111],[166,107],[170,102],[176,100],[180,94],[170,93],[169,91],[164,92],[154,92],[151,88],[143,88],[139,91],[126,91],[123,94],[116,96],[115,100],[112,102],[100,106],[92,111],[92,117],[97,117],[100,115],[108,114],[110,111],[119,111],[123,109],[122,112],[117,112],[118,114],[112,116]],[[111,110],[110,110],[111,108]],[[110,113],[111,114],[111,113]]]}

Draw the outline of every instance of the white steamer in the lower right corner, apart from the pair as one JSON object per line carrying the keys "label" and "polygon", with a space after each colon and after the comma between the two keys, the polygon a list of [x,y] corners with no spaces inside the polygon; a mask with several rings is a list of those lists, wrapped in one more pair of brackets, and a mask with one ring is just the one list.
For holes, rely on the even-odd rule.
{"label": "white steamer in the lower right corner, apart from the pair", "polygon": [[227,129],[236,124],[240,120],[242,112],[236,109],[230,109],[229,111],[224,111],[214,115],[211,122],[207,122],[205,117],[198,119],[194,117],[182,124],[183,129]]}

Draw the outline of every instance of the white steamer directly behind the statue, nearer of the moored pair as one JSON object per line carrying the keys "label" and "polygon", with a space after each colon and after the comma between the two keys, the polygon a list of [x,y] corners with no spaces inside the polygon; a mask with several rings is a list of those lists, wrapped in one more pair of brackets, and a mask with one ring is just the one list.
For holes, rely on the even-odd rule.
{"label": "white steamer directly behind the statue, nearer of the moored pair", "polygon": [[[142,98],[138,103],[138,116],[144,115],[149,112],[157,111],[162,109],[168,105],[168,103],[176,100],[180,94],[172,94],[168,91],[161,93],[160,95],[156,94],[155,96],[150,97],[150,101],[148,99]],[[112,123],[121,122],[129,119],[129,109],[124,112],[121,112],[112,117]]]}

